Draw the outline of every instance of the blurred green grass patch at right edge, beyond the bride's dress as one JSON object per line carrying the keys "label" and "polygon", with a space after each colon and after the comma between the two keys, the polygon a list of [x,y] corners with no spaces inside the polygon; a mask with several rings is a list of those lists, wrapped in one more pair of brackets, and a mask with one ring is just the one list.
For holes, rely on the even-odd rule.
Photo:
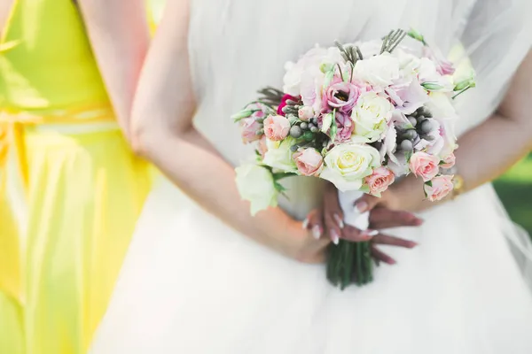
{"label": "blurred green grass patch at right edge, beyond the bride's dress", "polygon": [[532,153],[493,184],[513,221],[532,235]]}

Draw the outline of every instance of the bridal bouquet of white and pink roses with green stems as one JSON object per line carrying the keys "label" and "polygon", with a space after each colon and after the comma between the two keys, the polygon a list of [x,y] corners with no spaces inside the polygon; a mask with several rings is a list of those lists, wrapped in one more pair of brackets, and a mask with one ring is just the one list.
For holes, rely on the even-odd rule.
{"label": "bridal bouquet of white and pink roses with green stems", "polygon": [[[472,70],[461,79],[454,72],[413,30],[309,50],[286,64],[282,90],[260,90],[232,117],[243,141],[256,144],[256,163],[236,169],[240,195],[254,214],[277,205],[285,190],[279,180],[318,177],[339,189],[346,222],[358,227],[353,202],[380,196],[406,174],[425,181],[427,199],[442,199],[453,189],[453,176],[442,171],[458,147],[452,99],[475,86]],[[329,281],[342,289],[372,281],[368,242],[332,241]]]}

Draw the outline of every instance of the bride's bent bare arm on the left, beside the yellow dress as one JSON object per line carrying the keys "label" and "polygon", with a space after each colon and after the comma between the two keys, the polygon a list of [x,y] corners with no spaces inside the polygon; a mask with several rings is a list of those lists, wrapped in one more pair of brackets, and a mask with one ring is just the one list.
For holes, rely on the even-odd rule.
{"label": "bride's bent bare arm on the left, beside the yellow dress", "polygon": [[[279,208],[250,216],[231,165],[192,127],[195,98],[189,68],[188,0],[167,4],[146,58],[132,112],[132,141],[208,212],[257,242],[293,258],[325,248]],[[215,176],[215,177],[214,177]]]}

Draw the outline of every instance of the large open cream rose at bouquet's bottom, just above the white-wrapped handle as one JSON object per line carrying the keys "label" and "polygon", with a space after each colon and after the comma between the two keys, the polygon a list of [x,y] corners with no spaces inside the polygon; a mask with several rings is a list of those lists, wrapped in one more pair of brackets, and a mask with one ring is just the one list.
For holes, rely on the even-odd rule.
{"label": "large open cream rose at bouquet's bottom, just above the white-wrapped handle", "polygon": [[325,155],[325,169],[320,174],[341,191],[361,189],[364,177],[379,167],[379,151],[372,146],[353,142],[335,146]]}

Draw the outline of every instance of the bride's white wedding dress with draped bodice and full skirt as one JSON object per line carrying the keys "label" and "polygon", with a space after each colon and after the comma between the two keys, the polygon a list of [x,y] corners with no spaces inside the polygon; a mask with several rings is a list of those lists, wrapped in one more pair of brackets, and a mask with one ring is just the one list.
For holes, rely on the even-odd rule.
{"label": "bride's white wedding dress with draped bodice and full skirt", "polygon": [[[527,53],[532,31],[525,15],[532,13],[520,6],[528,5],[192,0],[196,127],[237,165],[252,151],[242,146],[229,117],[256,89],[280,86],[287,60],[316,42],[373,39],[391,28],[415,27],[444,51],[462,42],[477,69],[478,88],[458,100],[463,133],[493,112]],[[486,139],[504,145],[497,136]],[[302,219],[317,205],[320,185],[307,178],[286,183],[291,202],[283,207]],[[398,264],[377,268],[369,286],[340,291],[325,280],[324,266],[303,265],[255,244],[161,180],[145,205],[90,352],[532,353],[526,281],[532,251],[491,186],[422,218],[422,227],[390,231],[419,242],[418,248],[383,248]]]}

